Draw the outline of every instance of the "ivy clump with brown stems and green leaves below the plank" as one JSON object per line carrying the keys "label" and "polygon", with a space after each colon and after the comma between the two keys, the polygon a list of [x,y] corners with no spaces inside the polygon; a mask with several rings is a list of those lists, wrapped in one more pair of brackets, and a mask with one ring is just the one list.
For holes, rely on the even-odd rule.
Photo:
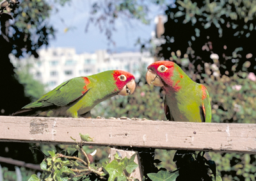
{"label": "ivy clump with brown stems and green leaves below the plank", "polygon": [[[138,167],[138,164],[134,162],[135,154],[132,155],[131,159],[120,159],[116,153],[115,159],[110,163],[104,163],[101,168],[93,166],[86,152],[83,149],[84,141],[92,141],[88,134],[80,134],[81,142],[77,145],[73,145],[72,148],[76,149],[76,152],[66,152],[65,155],[62,153],[55,153],[54,151],[48,151],[49,157],[44,159],[40,164],[43,170],[42,175],[38,178],[36,175],[31,175],[29,181],[37,180],[132,180],[127,177],[124,171],[132,173],[134,169]],[[90,140],[85,140],[84,138]],[[73,139],[73,138],[72,138]],[[74,139],[76,141],[76,139]],[[78,157],[78,153],[81,153],[83,157]],[[104,173],[104,171],[106,173]],[[108,176],[106,175],[108,174]]]}

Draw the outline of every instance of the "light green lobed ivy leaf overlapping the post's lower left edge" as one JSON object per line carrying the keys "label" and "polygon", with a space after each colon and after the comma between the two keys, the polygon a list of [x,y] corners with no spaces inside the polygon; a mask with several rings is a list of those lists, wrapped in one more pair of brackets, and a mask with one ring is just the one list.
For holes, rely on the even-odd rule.
{"label": "light green lobed ivy leaf overlapping the post's lower left edge", "polygon": [[113,160],[109,164],[107,164],[104,169],[108,171],[109,178],[108,180],[115,180],[116,177],[122,176],[123,174],[123,166],[118,163],[118,161]]}

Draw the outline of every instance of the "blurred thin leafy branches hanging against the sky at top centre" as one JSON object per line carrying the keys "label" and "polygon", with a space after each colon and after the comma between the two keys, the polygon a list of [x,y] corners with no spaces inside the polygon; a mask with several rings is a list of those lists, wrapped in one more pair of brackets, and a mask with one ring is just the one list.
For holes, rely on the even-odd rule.
{"label": "blurred thin leafy branches hanging against the sky at top centre", "polygon": [[148,12],[150,4],[162,6],[164,0],[136,1],[136,0],[104,0],[94,1],[90,11],[90,18],[86,24],[86,31],[90,24],[97,26],[104,32],[109,42],[113,42],[113,31],[115,31],[116,19],[122,18],[123,22],[131,19],[138,19],[143,24],[148,24]]}

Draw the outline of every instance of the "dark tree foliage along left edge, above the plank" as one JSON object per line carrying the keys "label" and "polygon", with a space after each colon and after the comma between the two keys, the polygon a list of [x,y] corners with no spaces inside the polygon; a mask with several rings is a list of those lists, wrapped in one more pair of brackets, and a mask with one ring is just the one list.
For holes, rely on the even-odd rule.
{"label": "dark tree foliage along left edge, above the plank", "polygon": [[[42,1],[1,1],[0,10],[0,114],[9,115],[30,102],[24,86],[17,81],[10,63],[12,52],[19,57],[25,54],[38,57],[36,50],[47,45],[54,30],[46,22],[51,8]],[[12,21],[11,21],[12,20]]]}

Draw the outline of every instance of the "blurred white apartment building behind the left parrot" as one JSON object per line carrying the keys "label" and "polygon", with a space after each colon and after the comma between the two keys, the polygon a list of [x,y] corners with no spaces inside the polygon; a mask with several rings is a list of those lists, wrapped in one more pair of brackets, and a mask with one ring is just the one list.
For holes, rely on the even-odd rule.
{"label": "blurred white apartment building behind the left parrot", "polygon": [[[93,54],[76,54],[73,48],[49,48],[39,52],[31,72],[35,78],[47,84],[47,91],[73,77],[97,74],[106,70],[125,70],[138,80],[141,70],[154,62],[149,52],[121,52],[108,54],[104,50]],[[30,58],[31,59],[31,58]],[[143,73],[145,73],[143,71]]]}

